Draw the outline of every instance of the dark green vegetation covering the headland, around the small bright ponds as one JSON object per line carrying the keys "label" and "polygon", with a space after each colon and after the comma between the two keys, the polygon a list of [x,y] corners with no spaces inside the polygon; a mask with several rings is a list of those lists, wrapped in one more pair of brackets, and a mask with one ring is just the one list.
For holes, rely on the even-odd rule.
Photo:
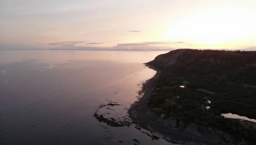
{"label": "dark green vegetation covering the headland, around the small bright ponds", "polygon": [[148,64],[161,70],[148,101],[151,110],[256,143],[255,123],[221,116],[256,119],[256,52],[178,49]]}

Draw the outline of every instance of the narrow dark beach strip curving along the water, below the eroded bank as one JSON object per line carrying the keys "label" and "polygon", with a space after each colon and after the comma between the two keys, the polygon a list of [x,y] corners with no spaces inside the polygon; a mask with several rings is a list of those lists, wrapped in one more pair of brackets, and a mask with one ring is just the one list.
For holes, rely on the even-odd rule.
{"label": "narrow dark beach strip curving along the water, below the eroded bank", "polygon": [[[214,143],[210,142],[204,137],[195,136],[188,133],[181,133],[176,130],[172,130],[171,128],[164,126],[156,120],[151,119],[147,115],[148,108],[146,103],[148,102],[148,99],[151,97],[151,94],[154,90],[154,82],[160,76],[161,71],[148,63],[145,63],[145,66],[152,70],[155,70],[157,73],[152,78],[148,79],[145,84],[143,84],[143,96],[141,96],[141,98],[137,102],[134,102],[134,104],[132,104],[128,111],[128,114],[133,120],[133,122],[151,132],[157,132],[164,136],[168,136],[167,140],[169,140],[169,142],[172,143],[192,143],[193,145],[215,145]],[[143,88],[145,90],[143,90]]]}

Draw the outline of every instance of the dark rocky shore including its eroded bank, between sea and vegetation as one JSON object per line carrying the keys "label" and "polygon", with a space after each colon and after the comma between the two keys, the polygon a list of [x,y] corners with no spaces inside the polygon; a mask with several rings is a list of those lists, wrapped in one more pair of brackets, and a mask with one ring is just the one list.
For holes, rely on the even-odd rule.
{"label": "dark rocky shore including its eroded bank, between sea and vegetation", "polygon": [[233,142],[233,137],[215,128],[201,128],[195,123],[156,114],[147,108],[146,103],[154,90],[154,81],[160,76],[161,71],[150,64],[145,65],[157,73],[145,81],[140,91],[141,98],[128,110],[133,123],[149,131],[161,133],[169,142],[181,145],[246,145],[244,142]]}

